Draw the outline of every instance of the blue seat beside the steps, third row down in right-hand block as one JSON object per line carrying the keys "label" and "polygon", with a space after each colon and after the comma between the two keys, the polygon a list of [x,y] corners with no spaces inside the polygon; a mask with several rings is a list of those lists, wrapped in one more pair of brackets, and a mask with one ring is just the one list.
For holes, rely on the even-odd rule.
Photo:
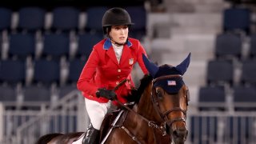
{"label": "blue seat beside the steps, third row down in right-hand block", "polygon": [[207,83],[214,85],[233,85],[234,66],[230,60],[210,60],[206,70]]}

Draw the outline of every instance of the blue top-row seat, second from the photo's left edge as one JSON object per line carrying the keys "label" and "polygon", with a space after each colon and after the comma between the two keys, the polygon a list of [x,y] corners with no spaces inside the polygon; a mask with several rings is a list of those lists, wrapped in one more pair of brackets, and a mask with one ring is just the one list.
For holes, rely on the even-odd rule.
{"label": "blue top-row seat, second from the photo's left edge", "polygon": [[40,7],[22,7],[18,10],[18,29],[44,30],[46,10]]}

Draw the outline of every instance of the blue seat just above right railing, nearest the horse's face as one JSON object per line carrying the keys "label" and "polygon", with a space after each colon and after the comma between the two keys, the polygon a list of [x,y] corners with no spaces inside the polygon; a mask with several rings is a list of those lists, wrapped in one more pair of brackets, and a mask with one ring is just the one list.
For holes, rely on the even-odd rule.
{"label": "blue seat just above right railing, nearest the horse's face", "polygon": [[199,110],[226,110],[224,86],[202,86],[199,89]]}

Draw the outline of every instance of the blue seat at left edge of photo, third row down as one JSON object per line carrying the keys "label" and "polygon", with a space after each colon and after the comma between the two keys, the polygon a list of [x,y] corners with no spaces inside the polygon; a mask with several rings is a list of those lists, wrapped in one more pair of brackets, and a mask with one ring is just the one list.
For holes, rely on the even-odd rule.
{"label": "blue seat at left edge of photo, third row down", "polygon": [[16,85],[18,82],[25,82],[26,64],[18,60],[0,61],[0,82],[7,82]]}

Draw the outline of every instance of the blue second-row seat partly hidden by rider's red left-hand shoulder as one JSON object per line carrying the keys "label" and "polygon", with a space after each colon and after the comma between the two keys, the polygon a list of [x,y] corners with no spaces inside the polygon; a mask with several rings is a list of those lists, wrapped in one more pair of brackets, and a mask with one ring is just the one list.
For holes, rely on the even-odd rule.
{"label": "blue second-row seat partly hidden by rider's red left-hand shoulder", "polygon": [[78,34],[76,57],[88,58],[93,46],[102,40],[102,34]]}

